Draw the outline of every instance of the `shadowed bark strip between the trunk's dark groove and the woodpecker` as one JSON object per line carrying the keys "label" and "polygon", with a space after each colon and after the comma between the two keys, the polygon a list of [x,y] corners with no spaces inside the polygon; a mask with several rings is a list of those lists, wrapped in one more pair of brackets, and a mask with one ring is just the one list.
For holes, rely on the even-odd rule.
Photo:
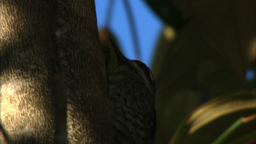
{"label": "shadowed bark strip between the trunk's dark groove and the woodpecker", "polygon": [[71,143],[110,142],[106,68],[93,0],[58,1],[56,38]]}

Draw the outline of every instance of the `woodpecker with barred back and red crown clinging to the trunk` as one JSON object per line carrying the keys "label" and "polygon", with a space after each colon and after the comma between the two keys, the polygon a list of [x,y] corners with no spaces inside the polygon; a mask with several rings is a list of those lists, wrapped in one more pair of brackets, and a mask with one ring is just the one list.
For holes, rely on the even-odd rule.
{"label": "woodpecker with barred back and red crown clinging to the trunk", "polygon": [[150,69],[126,58],[110,38],[118,66],[109,74],[115,144],[153,144],[156,132],[156,82]]}

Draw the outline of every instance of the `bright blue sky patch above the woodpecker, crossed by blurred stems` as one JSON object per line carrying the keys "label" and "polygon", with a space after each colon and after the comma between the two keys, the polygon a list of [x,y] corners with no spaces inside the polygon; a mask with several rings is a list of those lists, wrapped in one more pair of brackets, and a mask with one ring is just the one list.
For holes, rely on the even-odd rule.
{"label": "bright blue sky patch above the woodpecker, crossed by blurred stems", "polygon": [[[110,0],[95,0],[99,29],[106,25],[106,13],[109,2]],[[132,8],[132,14],[138,33],[141,53],[140,60],[150,66],[163,22],[143,0],[129,0],[128,2]],[[116,36],[124,55],[129,59],[136,59],[129,20],[123,0],[114,0],[109,28]]]}

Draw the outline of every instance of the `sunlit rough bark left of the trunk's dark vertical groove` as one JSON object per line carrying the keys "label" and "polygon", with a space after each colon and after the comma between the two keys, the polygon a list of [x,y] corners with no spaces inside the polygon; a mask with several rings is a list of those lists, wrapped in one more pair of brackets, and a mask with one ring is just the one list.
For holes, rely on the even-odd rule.
{"label": "sunlit rough bark left of the trunk's dark vertical groove", "polygon": [[[1,123],[13,142],[52,143],[50,4],[1,0]],[[1,134],[2,143],[2,134]]]}

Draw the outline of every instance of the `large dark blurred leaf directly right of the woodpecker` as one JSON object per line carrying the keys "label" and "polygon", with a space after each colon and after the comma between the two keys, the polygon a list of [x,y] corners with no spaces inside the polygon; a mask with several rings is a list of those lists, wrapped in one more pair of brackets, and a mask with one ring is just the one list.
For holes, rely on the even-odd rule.
{"label": "large dark blurred leaf directly right of the woodpecker", "polygon": [[157,84],[156,143],[166,143],[183,118],[202,102],[254,88],[209,44],[202,26],[200,21],[191,21],[174,40],[166,34],[173,33],[166,26],[160,36],[152,65]]}

